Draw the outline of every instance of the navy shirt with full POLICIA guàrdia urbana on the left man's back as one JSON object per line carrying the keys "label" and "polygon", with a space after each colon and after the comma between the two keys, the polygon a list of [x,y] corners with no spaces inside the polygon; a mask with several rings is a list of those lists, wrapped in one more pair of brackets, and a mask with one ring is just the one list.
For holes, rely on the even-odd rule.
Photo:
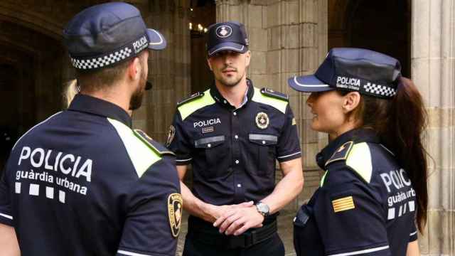
{"label": "navy shirt with full POLICIA gu\u00e0rdia urbana on the left man's back", "polygon": [[11,152],[0,223],[22,255],[175,255],[181,196],[175,156],[117,105],[77,95]]}

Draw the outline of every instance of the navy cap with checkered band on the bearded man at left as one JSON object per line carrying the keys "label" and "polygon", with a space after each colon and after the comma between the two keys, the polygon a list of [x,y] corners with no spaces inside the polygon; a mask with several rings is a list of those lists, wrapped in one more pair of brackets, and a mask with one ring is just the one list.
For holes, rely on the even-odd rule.
{"label": "navy cap with checkered band on the bearded man at left", "polygon": [[91,6],[76,14],[63,38],[71,63],[79,70],[105,68],[145,49],[166,48],[164,36],[146,28],[139,10],[122,2]]}

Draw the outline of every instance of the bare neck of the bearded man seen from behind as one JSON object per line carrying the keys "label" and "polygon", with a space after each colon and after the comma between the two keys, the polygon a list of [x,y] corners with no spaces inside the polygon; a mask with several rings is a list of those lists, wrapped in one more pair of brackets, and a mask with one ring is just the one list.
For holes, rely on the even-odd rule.
{"label": "bare neck of the bearded man seen from behind", "polygon": [[104,89],[96,91],[81,90],[80,93],[111,102],[112,104],[122,107],[124,111],[129,113],[129,97],[125,97],[125,95],[131,95],[131,92],[127,90],[127,86],[117,84],[105,85],[102,88]]}

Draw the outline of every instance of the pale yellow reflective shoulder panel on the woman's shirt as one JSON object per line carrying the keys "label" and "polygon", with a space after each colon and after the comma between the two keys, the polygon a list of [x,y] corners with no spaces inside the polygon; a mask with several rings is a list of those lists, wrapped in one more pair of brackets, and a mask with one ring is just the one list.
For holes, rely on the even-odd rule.
{"label": "pale yellow reflective shoulder panel on the woman's shirt", "polygon": [[350,166],[365,182],[370,183],[373,163],[370,147],[366,142],[353,145],[346,159],[346,165]]}

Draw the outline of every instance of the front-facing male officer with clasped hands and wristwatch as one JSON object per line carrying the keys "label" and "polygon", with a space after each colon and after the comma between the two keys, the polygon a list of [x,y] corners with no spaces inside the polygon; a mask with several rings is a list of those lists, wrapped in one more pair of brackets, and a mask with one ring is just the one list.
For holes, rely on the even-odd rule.
{"label": "front-facing male officer with clasped hands and wristwatch", "polygon": [[[181,179],[193,165],[193,191],[181,183],[191,213],[183,255],[284,255],[277,212],[303,186],[288,97],[247,80],[241,23],[210,26],[207,46],[215,83],[178,104],[168,135]],[[277,186],[276,159],[284,174]]]}

